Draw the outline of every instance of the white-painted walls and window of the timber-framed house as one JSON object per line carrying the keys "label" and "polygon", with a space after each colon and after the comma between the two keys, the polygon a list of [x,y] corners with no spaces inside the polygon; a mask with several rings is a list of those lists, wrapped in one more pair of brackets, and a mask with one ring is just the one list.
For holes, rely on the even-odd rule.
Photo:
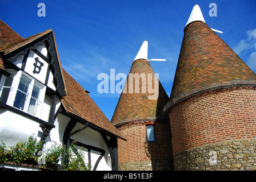
{"label": "white-painted walls and window of the timber-framed house", "polygon": [[[37,45],[35,49],[48,58],[45,43]],[[24,59],[25,55],[19,55],[17,60],[13,62],[13,64],[20,69],[19,71],[17,71],[17,69],[6,69],[6,71],[11,73],[11,76],[6,77],[0,75],[0,102],[6,105],[6,108],[0,108],[0,140],[5,140],[4,142],[7,146],[14,146],[18,142],[25,142],[33,134],[37,136],[39,141],[43,134],[40,123],[49,122],[52,99],[50,96],[47,96],[46,90],[50,89],[55,91],[57,87],[54,82],[53,71],[50,71],[47,76],[50,63],[47,63],[41,56],[30,49],[26,59]],[[19,100],[18,96],[22,96],[23,100]],[[55,115],[57,114],[54,121],[55,127],[50,130],[50,134],[45,140],[46,145],[53,141],[57,143],[63,142],[63,134],[71,119],[67,117],[67,115],[57,113],[59,107],[61,107],[60,98],[57,99],[55,105]],[[82,126],[81,123],[77,122],[77,125],[75,125],[71,132]],[[71,139],[105,150],[105,155],[100,160],[97,170],[111,170],[109,151],[98,131],[87,127],[71,136]],[[80,150],[82,150],[81,147]],[[88,151],[86,148],[84,151],[84,160],[88,163]],[[99,156],[101,156],[99,152],[90,151],[91,169],[93,169]],[[21,169],[21,167],[7,164],[1,164],[0,167],[15,170]],[[30,170],[30,168],[27,168],[27,170]]]}

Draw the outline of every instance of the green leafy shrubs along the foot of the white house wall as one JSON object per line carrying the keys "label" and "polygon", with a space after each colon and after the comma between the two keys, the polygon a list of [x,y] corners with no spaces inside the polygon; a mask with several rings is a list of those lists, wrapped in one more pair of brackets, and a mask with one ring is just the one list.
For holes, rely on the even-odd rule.
{"label": "green leafy shrubs along the foot of the white house wall", "polygon": [[[43,167],[63,171],[90,170],[89,164],[86,164],[80,153],[75,150],[75,144],[75,141],[71,142],[69,150],[65,151],[65,147],[57,142],[51,143],[50,147],[42,148],[42,143],[37,142],[37,138],[34,135],[31,135],[27,142],[19,142],[15,146],[10,147],[7,147],[3,140],[1,140],[0,163],[43,164]],[[73,151],[76,151],[77,154],[74,154]],[[63,164],[59,165],[63,155],[66,156],[66,160],[63,161]]]}

